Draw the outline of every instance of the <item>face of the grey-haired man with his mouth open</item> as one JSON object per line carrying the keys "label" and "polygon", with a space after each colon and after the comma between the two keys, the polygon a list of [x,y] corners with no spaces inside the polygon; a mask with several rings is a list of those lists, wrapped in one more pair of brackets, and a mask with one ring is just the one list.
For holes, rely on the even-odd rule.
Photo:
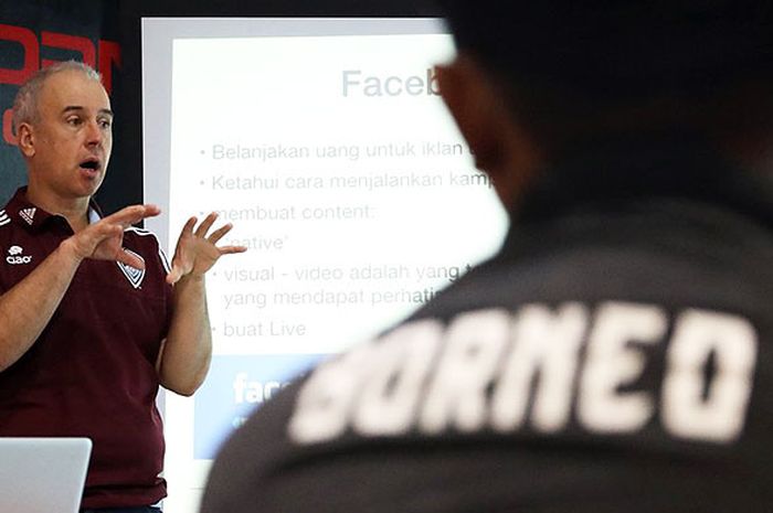
{"label": "face of the grey-haired man with his mouth open", "polygon": [[30,185],[63,200],[102,185],[113,149],[113,113],[102,85],[78,71],[50,76],[32,124]]}

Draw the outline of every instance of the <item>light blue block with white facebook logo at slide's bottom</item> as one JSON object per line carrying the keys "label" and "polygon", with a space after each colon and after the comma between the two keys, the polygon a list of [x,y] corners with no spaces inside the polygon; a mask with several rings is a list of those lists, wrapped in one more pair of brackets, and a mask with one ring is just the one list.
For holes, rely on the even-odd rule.
{"label": "light blue block with white facebook logo at slide's bottom", "polygon": [[220,445],[251,413],[327,356],[214,356],[207,381],[193,396],[193,457],[214,458]]}

